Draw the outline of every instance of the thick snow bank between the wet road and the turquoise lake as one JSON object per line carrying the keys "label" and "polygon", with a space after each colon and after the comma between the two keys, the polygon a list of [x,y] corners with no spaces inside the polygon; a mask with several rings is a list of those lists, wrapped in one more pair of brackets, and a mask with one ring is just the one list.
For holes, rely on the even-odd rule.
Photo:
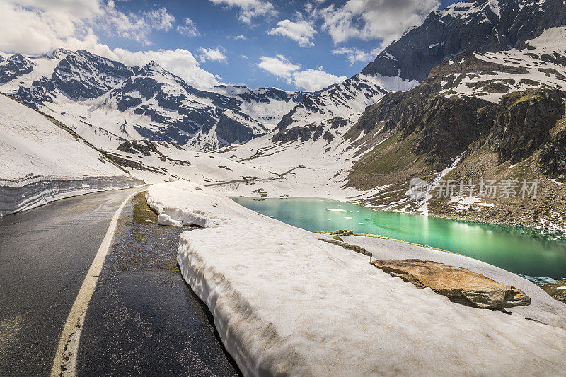
{"label": "thick snow bank between the wet road and the turquoise lake", "polygon": [[558,375],[566,330],[451,303],[320,235],[205,187],[149,187],[149,205],[203,230],[178,262],[246,376]]}

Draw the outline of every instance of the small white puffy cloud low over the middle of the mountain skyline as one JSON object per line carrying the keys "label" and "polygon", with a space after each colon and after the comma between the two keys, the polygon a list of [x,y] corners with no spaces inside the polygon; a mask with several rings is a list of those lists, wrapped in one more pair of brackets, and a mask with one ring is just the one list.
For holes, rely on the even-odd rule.
{"label": "small white puffy cloud low over the middle of the mountain skyline", "polygon": [[318,91],[347,79],[346,76],[335,76],[323,71],[322,66],[301,71],[299,64],[292,63],[283,55],[261,57],[260,60],[258,67],[306,91]]}

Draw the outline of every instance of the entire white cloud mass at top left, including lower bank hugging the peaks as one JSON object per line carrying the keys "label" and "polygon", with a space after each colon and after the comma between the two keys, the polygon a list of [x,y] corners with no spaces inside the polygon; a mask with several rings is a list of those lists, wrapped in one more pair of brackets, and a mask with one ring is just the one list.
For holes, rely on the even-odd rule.
{"label": "entire white cloud mass at top left, including lower bank hugging the peaks", "polygon": [[[143,66],[154,60],[197,88],[217,85],[219,77],[202,69],[187,50],[112,50],[100,43],[96,35],[96,32],[105,33],[113,28],[108,33],[143,41],[151,30],[170,30],[173,22],[173,16],[163,8],[125,14],[112,1],[3,0],[0,1],[3,30],[0,51],[42,54],[58,47],[84,49],[129,66]],[[136,33],[138,35],[134,35]]]}

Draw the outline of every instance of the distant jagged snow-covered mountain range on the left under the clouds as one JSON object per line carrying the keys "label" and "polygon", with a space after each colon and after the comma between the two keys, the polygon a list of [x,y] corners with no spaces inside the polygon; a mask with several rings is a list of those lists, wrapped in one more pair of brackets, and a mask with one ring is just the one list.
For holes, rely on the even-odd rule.
{"label": "distant jagged snow-covered mountain range on the left under the clouds", "polygon": [[266,134],[309,93],[189,86],[155,62],[129,67],[85,50],[1,55],[1,91],[41,109],[93,144],[173,141],[210,151]]}

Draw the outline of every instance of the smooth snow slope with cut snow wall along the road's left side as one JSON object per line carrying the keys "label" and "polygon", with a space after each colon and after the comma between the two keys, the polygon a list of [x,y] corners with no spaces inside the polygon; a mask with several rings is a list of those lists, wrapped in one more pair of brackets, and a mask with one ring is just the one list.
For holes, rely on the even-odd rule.
{"label": "smooth snow slope with cut snow wall along the road's left side", "polygon": [[0,95],[0,215],[139,183],[62,124]]}

